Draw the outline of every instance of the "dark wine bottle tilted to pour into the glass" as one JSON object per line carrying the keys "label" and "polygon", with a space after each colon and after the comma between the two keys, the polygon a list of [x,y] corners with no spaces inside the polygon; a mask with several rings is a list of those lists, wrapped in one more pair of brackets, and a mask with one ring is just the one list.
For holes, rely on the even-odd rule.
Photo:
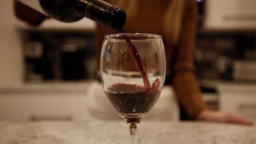
{"label": "dark wine bottle tilted to pour into the glass", "polygon": [[125,12],[101,0],[19,0],[29,7],[62,22],[75,22],[87,17],[119,29],[126,22]]}

